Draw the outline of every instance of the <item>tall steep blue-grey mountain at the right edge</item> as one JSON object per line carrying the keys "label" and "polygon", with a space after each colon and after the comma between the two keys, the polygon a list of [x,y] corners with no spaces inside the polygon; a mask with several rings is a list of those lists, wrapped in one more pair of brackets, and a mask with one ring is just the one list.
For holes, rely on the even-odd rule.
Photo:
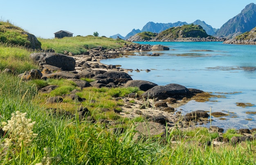
{"label": "tall steep blue-grey mountain at the right edge", "polygon": [[219,30],[217,37],[232,38],[256,27],[256,4],[250,3],[237,16],[228,20]]}

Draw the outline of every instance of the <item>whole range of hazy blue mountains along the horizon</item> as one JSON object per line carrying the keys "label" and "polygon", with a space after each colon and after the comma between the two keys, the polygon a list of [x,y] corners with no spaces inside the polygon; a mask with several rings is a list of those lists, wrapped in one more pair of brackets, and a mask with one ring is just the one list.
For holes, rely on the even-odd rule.
{"label": "whole range of hazy blue mountains along the horizon", "polygon": [[[237,16],[228,20],[220,29],[215,29],[208,25],[204,21],[195,20],[191,24],[200,25],[207,32],[208,35],[219,37],[219,38],[232,38],[246,31],[252,30],[256,27],[256,4],[250,3],[245,9],[243,9]],[[187,22],[175,22],[175,23],[154,23],[148,22],[144,27],[139,29],[132,29],[130,33],[128,33],[125,37],[120,34],[116,34],[114,36],[110,36],[110,38],[122,38],[127,40],[131,36],[134,36],[137,33],[149,31],[153,33],[160,33],[166,29],[171,27],[177,27],[182,25],[188,25]]]}

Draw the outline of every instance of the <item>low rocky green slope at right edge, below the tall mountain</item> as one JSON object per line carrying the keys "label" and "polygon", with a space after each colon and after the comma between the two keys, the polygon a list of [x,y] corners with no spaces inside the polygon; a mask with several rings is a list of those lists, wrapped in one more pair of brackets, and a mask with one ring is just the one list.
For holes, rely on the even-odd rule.
{"label": "low rocky green slope at right edge, below the tall mountain", "polygon": [[242,33],[234,38],[226,40],[223,42],[225,44],[249,44],[256,45],[256,27],[254,27],[251,31],[247,31]]}

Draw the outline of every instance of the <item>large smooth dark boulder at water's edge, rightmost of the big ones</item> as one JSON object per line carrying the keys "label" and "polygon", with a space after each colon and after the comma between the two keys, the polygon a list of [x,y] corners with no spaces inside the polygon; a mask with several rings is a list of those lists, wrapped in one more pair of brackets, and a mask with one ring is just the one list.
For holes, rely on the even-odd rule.
{"label": "large smooth dark boulder at water's edge, rightmost of the big ones", "polygon": [[186,87],[179,85],[179,84],[169,84],[165,86],[155,86],[142,94],[144,98],[159,98],[159,99],[166,99],[168,97],[181,99],[184,97],[193,96],[191,91]]}

